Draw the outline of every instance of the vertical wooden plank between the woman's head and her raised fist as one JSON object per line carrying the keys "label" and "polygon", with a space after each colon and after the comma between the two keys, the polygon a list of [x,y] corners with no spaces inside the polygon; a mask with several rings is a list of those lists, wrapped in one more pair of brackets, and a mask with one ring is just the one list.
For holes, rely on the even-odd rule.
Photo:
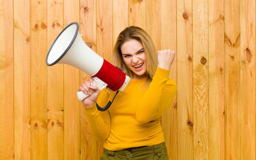
{"label": "vertical wooden plank between the woman's head and her raised fist", "polygon": [[146,1],[146,32],[150,35],[157,50],[161,50],[161,1]]}

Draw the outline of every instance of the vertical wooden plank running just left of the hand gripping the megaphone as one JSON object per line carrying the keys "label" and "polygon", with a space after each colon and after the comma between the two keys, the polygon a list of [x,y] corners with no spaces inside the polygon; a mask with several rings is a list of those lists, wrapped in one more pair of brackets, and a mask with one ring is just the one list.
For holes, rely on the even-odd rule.
{"label": "vertical wooden plank running just left of the hand gripping the megaphone", "polygon": [[[79,0],[65,0],[64,27],[79,23]],[[79,26],[80,27],[80,26]],[[80,101],[76,91],[80,86],[80,70],[64,65],[64,160],[80,160]]]}

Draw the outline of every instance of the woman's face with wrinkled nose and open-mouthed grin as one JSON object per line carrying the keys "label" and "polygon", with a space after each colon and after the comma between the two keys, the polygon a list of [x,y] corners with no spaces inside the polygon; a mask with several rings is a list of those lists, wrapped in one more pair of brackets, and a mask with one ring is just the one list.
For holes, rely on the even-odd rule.
{"label": "woman's face with wrinkled nose and open-mouthed grin", "polygon": [[138,40],[128,40],[121,46],[122,57],[126,66],[133,72],[134,79],[146,76],[146,55]]}

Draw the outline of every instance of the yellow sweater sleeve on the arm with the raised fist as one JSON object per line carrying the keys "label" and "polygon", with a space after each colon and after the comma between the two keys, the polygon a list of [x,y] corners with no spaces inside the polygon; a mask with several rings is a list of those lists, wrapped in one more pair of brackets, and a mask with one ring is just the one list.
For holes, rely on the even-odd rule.
{"label": "yellow sweater sleeve on the arm with the raised fist", "polygon": [[148,90],[139,102],[136,119],[147,123],[159,118],[170,107],[177,92],[177,84],[168,78],[170,71],[157,67]]}

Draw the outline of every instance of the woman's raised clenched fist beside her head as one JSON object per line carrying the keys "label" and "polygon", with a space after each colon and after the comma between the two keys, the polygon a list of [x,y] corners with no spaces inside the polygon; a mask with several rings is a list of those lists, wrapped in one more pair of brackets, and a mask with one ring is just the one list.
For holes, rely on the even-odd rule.
{"label": "woman's raised clenched fist beside her head", "polygon": [[158,67],[166,70],[171,69],[171,65],[173,64],[173,60],[175,58],[175,51],[171,49],[164,49],[161,51],[157,51],[158,55]]}

